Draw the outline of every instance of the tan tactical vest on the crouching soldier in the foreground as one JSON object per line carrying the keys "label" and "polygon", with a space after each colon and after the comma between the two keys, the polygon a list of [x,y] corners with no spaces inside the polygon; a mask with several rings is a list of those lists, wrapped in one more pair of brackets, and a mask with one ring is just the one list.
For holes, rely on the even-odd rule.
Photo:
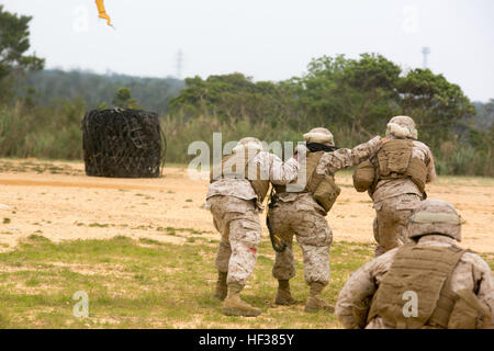
{"label": "tan tactical vest on the crouching soldier in the foreground", "polygon": [[[388,325],[400,329],[448,328],[457,299],[451,291],[451,276],[465,251],[454,246],[406,245],[400,248],[372,298],[367,321],[380,316]],[[405,316],[404,305],[411,298],[407,292],[417,296],[416,317]]]}

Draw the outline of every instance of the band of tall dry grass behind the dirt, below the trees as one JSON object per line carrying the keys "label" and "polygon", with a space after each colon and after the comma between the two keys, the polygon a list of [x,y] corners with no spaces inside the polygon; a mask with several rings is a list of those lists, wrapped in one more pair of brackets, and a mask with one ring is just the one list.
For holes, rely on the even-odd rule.
{"label": "band of tall dry grass behind the dirt, below the trees", "polygon": [[[59,101],[47,107],[29,107],[22,103],[0,106],[0,157],[80,160],[80,121],[85,110],[81,100]],[[173,163],[187,163],[195,157],[188,155],[189,145],[193,141],[203,140],[212,147],[213,133],[222,133],[223,143],[245,136],[271,143],[302,140],[306,132],[266,121],[220,121],[211,115],[189,120],[165,115],[161,122],[168,146],[166,161]],[[316,126],[307,129],[311,127]],[[334,132],[337,146],[351,148],[364,141],[348,128],[327,127]],[[439,174],[494,177],[492,155],[478,152],[470,145],[445,141],[433,152]]]}

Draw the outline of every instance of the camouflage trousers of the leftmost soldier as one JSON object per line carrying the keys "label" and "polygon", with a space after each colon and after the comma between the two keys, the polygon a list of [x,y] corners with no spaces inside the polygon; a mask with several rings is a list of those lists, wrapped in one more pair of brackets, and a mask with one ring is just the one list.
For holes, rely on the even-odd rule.
{"label": "camouflage trousers of the leftmost soldier", "polygon": [[227,283],[246,285],[257,260],[261,240],[259,214],[252,201],[235,196],[213,196],[207,200],[214,227],[222,235],[216,252],[216,268],[228,272]]}

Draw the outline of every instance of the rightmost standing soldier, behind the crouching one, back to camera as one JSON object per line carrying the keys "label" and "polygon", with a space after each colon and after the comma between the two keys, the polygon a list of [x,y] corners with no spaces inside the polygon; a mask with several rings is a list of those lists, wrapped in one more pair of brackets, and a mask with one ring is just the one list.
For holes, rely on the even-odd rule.
{"label": "rightmost standing soldier, behind the crouching one, back to camera", "polygon": [[368,189],[357,189],[369,190],[373,201],[375,256],[406,242],[405,228],[412,211],[425,199],[425,183],[436,179],[433,154],[427,145],[416,140],[417,129],[411,117],[391,118],[386,137],[392,139],[386,143],[389,150],[383,148],[370,159],[373,183]]}

